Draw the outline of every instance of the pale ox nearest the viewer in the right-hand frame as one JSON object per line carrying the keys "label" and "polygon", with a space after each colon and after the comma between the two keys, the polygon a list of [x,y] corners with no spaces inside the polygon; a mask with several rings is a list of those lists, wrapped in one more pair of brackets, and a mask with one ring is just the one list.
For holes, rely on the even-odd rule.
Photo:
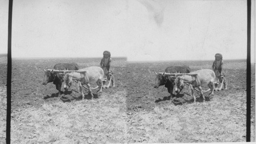
{"label": "pale ox nearest the viewer in the right-hand frame", "polygon": [[[206,86],[211,90],[210,94],[214,94],[214,90],[216,90],[214,81],[215,81],[215,73],[211,69],[201,69],[190,74],[176,74],[177,78],[175,79],[175,91],[179,92],[184,86],[184,83],[189,84],[189,88],[191,89],[191,93],[194,97],[194,103],[196,102],[196,97],[194,94],[195,87],[199,88],[201,96],[203,97],[203,101],[205,101],[204,94],[201,86]],[[172,77],[172,76],[171,76]],[[221,85],[222,88],[223,85]],[[221,89],[220,88],[220,89]]]}

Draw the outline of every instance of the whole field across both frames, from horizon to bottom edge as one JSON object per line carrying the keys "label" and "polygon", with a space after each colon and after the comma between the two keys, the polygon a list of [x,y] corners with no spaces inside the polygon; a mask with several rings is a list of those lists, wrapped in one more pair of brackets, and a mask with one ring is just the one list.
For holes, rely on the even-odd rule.
{"label": "whole field across both frames, from horizon to bottom edge", "polygon": [[[4,61],[4,60],[3,60]],[[11,143],[137,143],[246,141],[246,61],[225,61],[228,89],[205,93],[197,103],[188,88],[173,99],[162,86],[154,88],[156,72],[170,65],[193,71],[212,61],[127,63],[113,58],[116,87],[80,99],[74,82],[62,99],[55,85],[42,85],[44,71],[59,62],[80,68],[98,66],[100,58],[13,59]],[[7,66],[0,63],[1,82]],[[4,73],[2,73],[4,71]],[[255,65],[252,66],[251,141],[255,141]],[[5,142],[6,86],[0,83],[0,143]],[[206,89],[206,88],[205,88]],[[62,87],[63,91],[63,87]],[[85,90],[84,90],[85,91]]]}

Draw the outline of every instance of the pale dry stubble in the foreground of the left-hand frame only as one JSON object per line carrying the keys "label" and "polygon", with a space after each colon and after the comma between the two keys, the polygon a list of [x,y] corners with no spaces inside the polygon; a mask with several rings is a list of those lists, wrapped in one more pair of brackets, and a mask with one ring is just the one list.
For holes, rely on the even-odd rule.
{"label": "pale dry stubble in the foreground of the left-hand frame only", "polygon": [[[125,91],[13,111],[12,143],[126,142]],[[108,104],[108,105],[106,105]]]}

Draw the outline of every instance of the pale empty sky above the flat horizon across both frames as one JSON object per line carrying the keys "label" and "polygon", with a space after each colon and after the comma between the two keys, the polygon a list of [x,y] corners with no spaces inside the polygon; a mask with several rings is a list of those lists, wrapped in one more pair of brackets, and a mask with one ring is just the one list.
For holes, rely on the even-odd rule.
{"label": "pale empty sky above the flat horizon across both frames", "polygon": [[[7,53],[8,3],[0,0],[0,53]],[[128,61],[247,57],[246,0],[14,0],[12,18],[14,58],[102,57],[105,50]]]}

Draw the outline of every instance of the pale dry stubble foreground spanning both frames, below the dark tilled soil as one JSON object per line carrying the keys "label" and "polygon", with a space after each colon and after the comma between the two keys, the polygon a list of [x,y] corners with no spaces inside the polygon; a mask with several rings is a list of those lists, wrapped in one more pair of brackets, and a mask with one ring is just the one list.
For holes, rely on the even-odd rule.
{"label": "pale dry stubble foreground spanning both frames, below the dark tilled soil", "polygon": [[[125,112],[126,91],[103,94],[95,100],[44,103],[40,108],[30,106],[13,111],[11,142],[245,141],[246,95],[238,93],[237,99],[234,96],[229,94],[205,103],[155,106],[153,111],[131,115]],[[191,133],[195,130],[196,133]]]}

